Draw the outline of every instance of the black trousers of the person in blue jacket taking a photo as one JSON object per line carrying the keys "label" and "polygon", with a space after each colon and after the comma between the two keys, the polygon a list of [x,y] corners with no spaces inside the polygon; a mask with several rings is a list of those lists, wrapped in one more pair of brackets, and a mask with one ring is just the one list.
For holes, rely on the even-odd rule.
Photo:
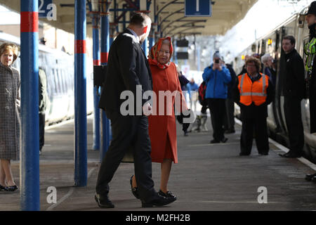
{"label": "black trousers of the person in blue jacket taking a photo", "polygon": [[211,123],[213,127],[213,139],[222,140],[224,136],[225,98],[206,98],[211,112]]}

